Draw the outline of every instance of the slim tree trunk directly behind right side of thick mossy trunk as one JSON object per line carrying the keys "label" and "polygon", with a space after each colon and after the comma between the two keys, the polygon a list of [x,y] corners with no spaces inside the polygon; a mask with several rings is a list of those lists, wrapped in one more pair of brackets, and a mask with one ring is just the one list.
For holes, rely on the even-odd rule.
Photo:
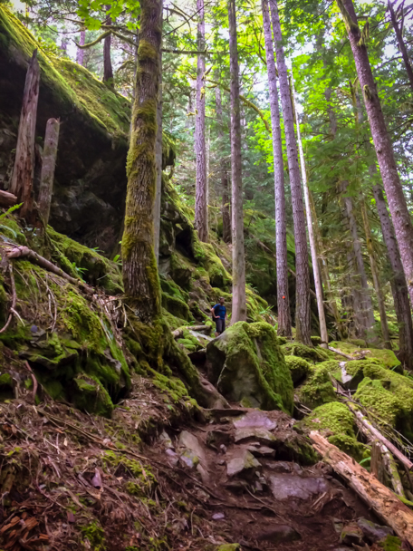
{"label": "slim tree trunk directly behind right side of thick mossy trunk", "polygon": [[[162,5],[161,2],[161,17],[162,17]],[[162,27],[162,20],[161,20]],[[162,43],[161,43],[162,47]],[[157,103],[157,143],[155,146],[155,164],[157,167],[157,187],[155,191],[155,203],[153,207],[153,248],[155,252],[155,258],[159,259],[159,238],[160,238],[160,206],[162,199],[162,49],[159,49],[159,92]]]}

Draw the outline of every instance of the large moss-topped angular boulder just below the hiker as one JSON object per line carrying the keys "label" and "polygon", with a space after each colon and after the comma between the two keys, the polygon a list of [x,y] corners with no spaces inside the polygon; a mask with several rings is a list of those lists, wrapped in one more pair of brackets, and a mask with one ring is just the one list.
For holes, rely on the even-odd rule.
{"label": "large moss-topped angular boulder just below the hiker", "polygon": [[206,346],[208,379],[230,401],[293,411],[293,380],[270,324],[238,322]]}

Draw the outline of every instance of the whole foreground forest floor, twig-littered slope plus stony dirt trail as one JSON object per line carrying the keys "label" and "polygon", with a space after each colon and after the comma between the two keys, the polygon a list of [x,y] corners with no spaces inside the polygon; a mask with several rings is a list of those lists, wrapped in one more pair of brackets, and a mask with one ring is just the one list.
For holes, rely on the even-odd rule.
{"label": "whole foreground forest floor, twig-littered slope plus stony dirt trail", "polygon": [[293,423],[171,405],[139,376],[111,420],[27,391],[0,408],[0,548],[381,549],[356,524],[377,519]]}

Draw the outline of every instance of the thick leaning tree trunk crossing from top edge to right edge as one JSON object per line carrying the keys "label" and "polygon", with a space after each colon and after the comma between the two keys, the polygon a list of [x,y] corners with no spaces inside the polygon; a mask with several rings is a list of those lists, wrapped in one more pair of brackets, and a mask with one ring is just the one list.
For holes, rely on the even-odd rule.
{"label": "thick leaning tree trunk crossing from top edge to right edge", "polygon": [[379,161],[381,178],[383,179],[390,214],[399,243],[401,261],[408,283],[408,294],[413,303],[413,225],[400,183],[393,146],[389,139],[383,111],[381,111],[379,94],[371,73],[369,55],[365,40],[360,32],[354,5],[352,0],[337,0],[337,4],[341,8],[349,34],[360,88],[363,90],[364,103],[370,121],[371,135]]}

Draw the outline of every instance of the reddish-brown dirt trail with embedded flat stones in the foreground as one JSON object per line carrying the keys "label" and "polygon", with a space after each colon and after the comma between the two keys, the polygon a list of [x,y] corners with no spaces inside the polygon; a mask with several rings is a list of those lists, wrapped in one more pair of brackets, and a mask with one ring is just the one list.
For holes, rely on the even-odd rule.
{"label": "reddish-brown dirt trail with embedded flat stones in the foreground", "polygon": [[[357,520],[377,519],[325,463],[313,464],[309,441],[288,415],[236,408],[209,411],[209,417],[163,432],[152,452],[179,469],[180,483],[202,504],[216,535],[242,549],[363,546]],[[344,540],[350,546],[341,542],[343,528],[354,533]]]}

